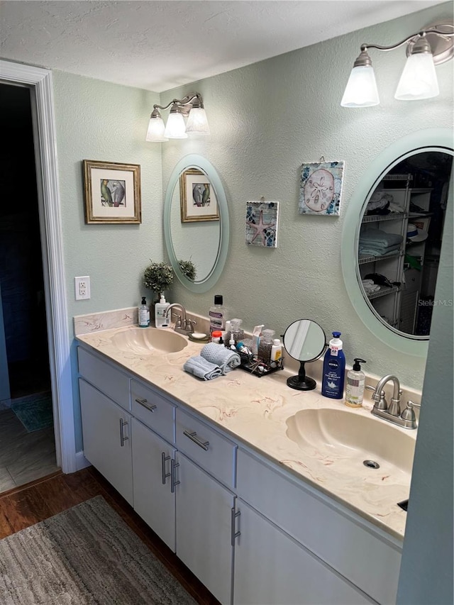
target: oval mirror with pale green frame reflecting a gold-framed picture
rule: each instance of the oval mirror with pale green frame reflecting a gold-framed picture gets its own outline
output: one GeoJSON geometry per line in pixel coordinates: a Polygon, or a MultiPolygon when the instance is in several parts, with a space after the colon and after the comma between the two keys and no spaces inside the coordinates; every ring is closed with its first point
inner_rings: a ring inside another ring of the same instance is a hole
{"type": "Polygon", "coordinates": [[[182,157],[165,193],[164,238],[177,279],[191,292],[214,287],[226,262],[229,221],[226,194],[214,166],[201,155],[182,157]],[[194,265],[195,275],[183,262],[194,265]]]}

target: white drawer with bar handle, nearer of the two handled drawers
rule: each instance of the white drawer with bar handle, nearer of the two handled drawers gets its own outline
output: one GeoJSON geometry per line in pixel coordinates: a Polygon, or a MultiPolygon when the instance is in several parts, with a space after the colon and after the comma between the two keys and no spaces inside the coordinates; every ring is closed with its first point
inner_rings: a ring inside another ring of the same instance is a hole
{"type": "Polygon", "coordinates": [[[235,487],[236,445],[177,408],[177,449],[227,487],[235,487]]]}

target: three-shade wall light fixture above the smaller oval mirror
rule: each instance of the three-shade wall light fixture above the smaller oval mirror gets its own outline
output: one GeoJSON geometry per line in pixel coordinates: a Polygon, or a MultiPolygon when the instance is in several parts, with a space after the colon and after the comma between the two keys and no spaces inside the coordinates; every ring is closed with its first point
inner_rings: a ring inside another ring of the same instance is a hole
{"type": "Polygon", "coordinates": [[[210,133],[201,94],[192,92],[182,99],[173,99],[165,106],[153,105],[146,140],[160,142],[170,138],[187,138],[188,133],[194,135],[210,133]],[[159,110],[169,107],[169,117],[164,126],[159,110]],[[184,116],[187,117],[186,123],[184,123],[184,116]]]}

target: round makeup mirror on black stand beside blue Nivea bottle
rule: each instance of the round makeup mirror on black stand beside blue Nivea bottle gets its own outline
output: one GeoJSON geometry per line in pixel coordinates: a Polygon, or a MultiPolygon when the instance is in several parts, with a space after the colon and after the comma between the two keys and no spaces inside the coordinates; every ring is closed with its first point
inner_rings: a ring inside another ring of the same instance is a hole
{"type": "Polygon", "coordinates": [[[323,328],[311,319],[299,319],[289,325],[284,333],[284,347],[290,357],[300,363],[297,376],[287,378],[291,389],[312,391],[316,387],[314,378],[306,376],[304,364],[315,361],[326,348],[326,335],[323,328]]]}

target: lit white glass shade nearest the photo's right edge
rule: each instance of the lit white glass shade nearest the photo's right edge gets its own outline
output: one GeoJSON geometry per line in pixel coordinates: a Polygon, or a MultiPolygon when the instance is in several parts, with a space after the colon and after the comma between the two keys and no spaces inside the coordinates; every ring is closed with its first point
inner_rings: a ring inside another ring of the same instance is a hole
{"type": "Polygon", "coordinates": [[[439,92],[431,52],[410,55],[405,62],[394,98],[399,101],[417,101],[418,99],[431,99],[439,92]]]}

